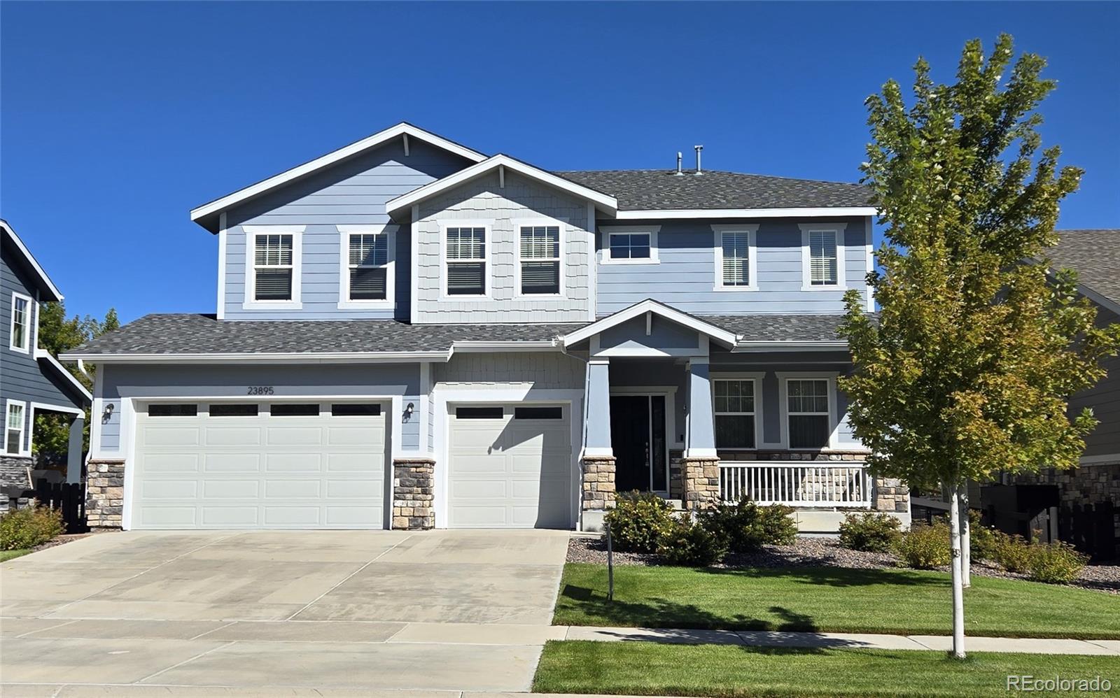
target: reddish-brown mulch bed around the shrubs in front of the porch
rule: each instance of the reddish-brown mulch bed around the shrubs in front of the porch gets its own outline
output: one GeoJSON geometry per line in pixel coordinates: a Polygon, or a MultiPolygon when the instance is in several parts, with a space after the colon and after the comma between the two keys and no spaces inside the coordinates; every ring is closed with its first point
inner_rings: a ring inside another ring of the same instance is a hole
{"type": "MultiPolygon", "coordinates": [[[[607,564],[607,544],[601,537],[578,536],[568,543],[569,563],[607,564]]],[[[661,565],[656,555],[638,553],[614,554],[616,565],[661,565]]],[[[850,567],[856,569],[898,568],[898,558],[889,553],[860,553],[841,548],[833,538],[797,538],[788,546],[763,546],[754,553],[728,555],[716,565],[726,569],[743,567],[850,567]]],[[[948,567],[941,572],[949,572],[948,567]]],[[[988,563],[972,563],[972,574],[1004,579],[1026,579],[988,563]]],[[[1120,565],[1089,565],[1080,578],[1066,586],[1079,586],[1108,594],[1120,594],[1120,565]]]]}

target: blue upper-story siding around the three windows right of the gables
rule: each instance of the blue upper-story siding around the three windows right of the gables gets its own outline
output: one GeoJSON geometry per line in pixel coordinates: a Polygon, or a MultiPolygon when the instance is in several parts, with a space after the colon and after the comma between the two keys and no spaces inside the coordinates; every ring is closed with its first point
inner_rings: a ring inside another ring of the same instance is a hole
{"type": "MultiPolygon", "coordinates": [[[[867,248],[864,218],[842,218],[844,279],[849,289],[867,293],[867,248]]],[[[659,264],[604,264],[605,233],[597,236],[596,312],[609,315],[652,298],[693,314],[842,313],[843,291],[802,291],[801,221],[760,219],[756,235],[757,291],[716,291],[712,224],[731,221],[670,220],[660,225],[659,264]]],[[[739,223],[743,223],[741,220],[739,223]]],[[[814,220],[813,223],[816,223],[814,220]]],[[[641,225],[627,220],[626,225],[641,225]]],[[[599,226],[618,225],[599,220],[599,226]]]]}

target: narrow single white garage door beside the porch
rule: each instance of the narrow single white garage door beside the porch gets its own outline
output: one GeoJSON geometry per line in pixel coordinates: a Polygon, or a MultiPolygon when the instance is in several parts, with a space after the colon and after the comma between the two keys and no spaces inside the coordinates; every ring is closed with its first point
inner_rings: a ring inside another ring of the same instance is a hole
{"type": "Polygon", "coordinates": [[[571,528],[564,406],[451,407],[448,526],[571,528]]]}

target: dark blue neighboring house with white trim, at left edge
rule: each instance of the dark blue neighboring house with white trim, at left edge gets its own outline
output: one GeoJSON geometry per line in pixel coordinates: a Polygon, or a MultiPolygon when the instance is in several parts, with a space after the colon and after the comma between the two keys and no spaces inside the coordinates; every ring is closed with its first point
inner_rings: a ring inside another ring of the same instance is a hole
{"type": "MultiPolygon", "coordinates": [[[[6,220],[0,220],[0,404],[4,411],[0,487],[27,487],[32,468],[35,415],[62,413],[71,422],[66,481],[82,479],[82,431],[92,396],[49,352],[38,347],[39,303],[63,294],[6,220]]],[[[0,509],[8,496],[0,493],[0,509]]]]}

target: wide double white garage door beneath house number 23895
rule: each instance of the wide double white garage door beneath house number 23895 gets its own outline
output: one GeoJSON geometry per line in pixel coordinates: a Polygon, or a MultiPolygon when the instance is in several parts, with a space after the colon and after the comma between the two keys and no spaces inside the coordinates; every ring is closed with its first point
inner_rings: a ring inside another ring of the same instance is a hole
{"type": "Polygon", "coordinates": [[[382,528],[373,403],[138,407],[133,528],[382,528]]]}

